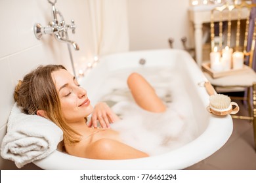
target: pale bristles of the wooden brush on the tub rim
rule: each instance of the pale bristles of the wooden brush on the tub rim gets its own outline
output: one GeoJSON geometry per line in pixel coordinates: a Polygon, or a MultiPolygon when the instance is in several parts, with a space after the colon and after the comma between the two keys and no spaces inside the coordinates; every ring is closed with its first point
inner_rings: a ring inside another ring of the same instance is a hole
{"type": "Polygon", "coordinates": [[[209,100],[210,100],[211,107],[218,108],[218,109],[228,108],[231,102],[230,97],[223,94],[211,95],[209,97],[209,100]]]}

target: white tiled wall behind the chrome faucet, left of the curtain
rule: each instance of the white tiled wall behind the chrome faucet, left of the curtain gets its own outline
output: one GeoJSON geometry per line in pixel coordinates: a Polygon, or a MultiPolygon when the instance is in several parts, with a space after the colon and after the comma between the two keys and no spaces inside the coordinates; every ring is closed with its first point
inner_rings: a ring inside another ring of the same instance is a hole
{"type": "MultiPolygon", "coordinates": [[[[69,32],[70,39],[79,44],[80,50],[72,49],[74,61],[85,64],[93,59],[95,47],[92,41],[89,10],[84,0],[58,0],[56,8],[62,12],[66,24],[74,19],[77,29],[69,32]]],[[[45,26],[52,21],[51,5],[47,0],[1,0],[0,1],[0,142],[6,133],[7,120],[14,100],[12,93],[19,79],[38,65],[58,63],[70,71],[67,45],[50,35],[37,40],[33,25],[45,26]]],[[[16,169],[12,161],[0,158],[0,169],[16,169]]],[[[37,169],[32,163],[24,169],[37,169]]]]}

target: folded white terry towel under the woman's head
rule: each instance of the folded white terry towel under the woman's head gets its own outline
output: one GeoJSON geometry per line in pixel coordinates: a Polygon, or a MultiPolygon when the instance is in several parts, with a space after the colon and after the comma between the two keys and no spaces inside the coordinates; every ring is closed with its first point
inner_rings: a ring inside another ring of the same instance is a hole
{"type": "Polygon", "coordinates": [[[1,144],[1,156],[21,168],[56,150],[62,135],[56,124],[41,116],[24,114],[15,103],[1,144]]]}

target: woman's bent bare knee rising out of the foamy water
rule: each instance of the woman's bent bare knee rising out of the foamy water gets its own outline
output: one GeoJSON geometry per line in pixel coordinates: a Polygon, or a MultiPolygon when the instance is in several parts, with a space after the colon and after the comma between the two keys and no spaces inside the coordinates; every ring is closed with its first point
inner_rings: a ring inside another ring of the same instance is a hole
{"type": "Polygon", "coordinates": [[[154,88],[138,73],[132,73],[127,84],[133,94],[137,105],[150,112],[164,112],[166,110],[163,101],[156,95],[154,88]]]}

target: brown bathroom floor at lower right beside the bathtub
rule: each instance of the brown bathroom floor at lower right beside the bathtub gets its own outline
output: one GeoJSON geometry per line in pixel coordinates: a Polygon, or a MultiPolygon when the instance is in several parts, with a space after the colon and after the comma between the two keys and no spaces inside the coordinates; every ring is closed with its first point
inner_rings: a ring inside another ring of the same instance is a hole
{"type": "MultiPolygon", "coordinates": [[[[240,106],[238,114],[247,115],[244,105],[236,102],[240,106]]],[[[237,119],[233,119],[233,124],[232,135],[221,149],[186,170],[256,170],[253,124],[249,120],[237,119]]]]}

